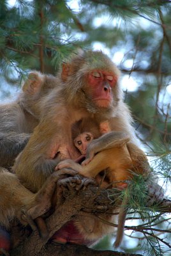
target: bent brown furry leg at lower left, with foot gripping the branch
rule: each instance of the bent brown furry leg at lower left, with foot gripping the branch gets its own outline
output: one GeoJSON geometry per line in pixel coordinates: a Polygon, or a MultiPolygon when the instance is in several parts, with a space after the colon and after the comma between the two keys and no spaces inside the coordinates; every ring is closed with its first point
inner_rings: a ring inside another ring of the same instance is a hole
{"type": "Polygon", "coordinates": [[[33,230],[38,227],[42,237],[45,237],[45,224],[43,220],[34,219],[47,212],[51,206],[51,198],[56,188],[57,180],[64,175],[75,175],[73,170],[59,170],[54,172],[45,182],[43,187],[34,194],[20,184],[19,179],[8,170],[0,169],[0,223],[9,227],[9,219],[17,218],[22,225],[29,224],[33,230]]]}

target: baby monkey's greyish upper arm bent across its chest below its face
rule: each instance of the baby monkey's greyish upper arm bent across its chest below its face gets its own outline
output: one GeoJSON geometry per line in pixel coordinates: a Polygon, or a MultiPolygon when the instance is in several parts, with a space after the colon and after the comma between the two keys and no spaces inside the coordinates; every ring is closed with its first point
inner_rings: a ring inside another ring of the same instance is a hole
{"type": "Polygon", "coordinates": [[[87,155],[82,162],[82,166],[88,164],[95,154],[108,148],[122,147],[126,142],[130,140],[126,132],[108,132],[103,134],[100,138],[91,141],[87,147],[87,155]]]}

